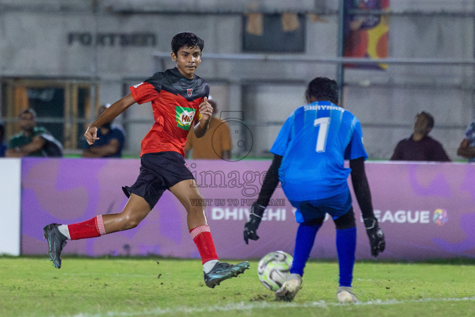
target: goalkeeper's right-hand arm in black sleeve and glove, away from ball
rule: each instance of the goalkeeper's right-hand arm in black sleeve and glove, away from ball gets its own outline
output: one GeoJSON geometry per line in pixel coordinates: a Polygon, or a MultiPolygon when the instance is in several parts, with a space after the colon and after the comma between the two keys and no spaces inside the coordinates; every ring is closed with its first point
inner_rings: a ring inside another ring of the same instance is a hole
{"type": "Polygon", "coordinates": [[[380,252],[384,251],[386,242],[384,240],[384,233],[378,224],[378,219],[376,219],[373,213],[370,185],[364,170],[364,158],[350,160],[350,168],[352,169],[352,184],[356,200],[358,200],[358,205],[360,205],[366,233],[368,233],[368,238],[370,239],[371,254],[378,256],[380,252]]]}

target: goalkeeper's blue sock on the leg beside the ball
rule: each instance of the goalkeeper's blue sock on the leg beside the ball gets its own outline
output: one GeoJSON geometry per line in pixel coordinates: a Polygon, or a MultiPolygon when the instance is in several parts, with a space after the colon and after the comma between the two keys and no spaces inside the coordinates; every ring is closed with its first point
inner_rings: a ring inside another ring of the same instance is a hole
{"type": "Polygon", "coordinates": [[[294,261],[290,273],[304,275],[305,263],[310,256],[320,226],[319,224],[305,225],[304,223],[299,225],[295,237],[294,261]]]}

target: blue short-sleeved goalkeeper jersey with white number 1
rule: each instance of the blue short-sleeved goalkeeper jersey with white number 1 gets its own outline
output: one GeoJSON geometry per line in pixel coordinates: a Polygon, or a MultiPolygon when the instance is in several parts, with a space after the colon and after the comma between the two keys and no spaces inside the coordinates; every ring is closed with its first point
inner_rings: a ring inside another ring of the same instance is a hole
{"type": "Polygon", "coordinates": [[[368,158],[360,121],[327,101],[304,105],[285,121],[270,151],[289,200],[324,199],[348,190],[345,159],[368,158]]]}

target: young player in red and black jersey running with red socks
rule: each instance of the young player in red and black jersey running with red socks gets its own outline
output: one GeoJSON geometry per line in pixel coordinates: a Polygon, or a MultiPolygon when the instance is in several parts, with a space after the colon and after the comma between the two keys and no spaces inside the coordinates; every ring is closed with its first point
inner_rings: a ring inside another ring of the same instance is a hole
{"type": "Polygon", "coordinates": [[[213,238],[206,220],[206,207],[191,205],[202,199],[193,184],[193,175],[184,160],[184,146],[190,127],[200,138],[209,127],[213,108],[208,103],[209,85],[194,75],[201,62],[204,41],[190,32],[181,32],[171,40],[171,58],[176,67],[155,73],[151,78],[130,87],[131,93],[113,103],[85,132],[91,145],[96,132],[134,103],[152,102],[155,123],[141,143],[140,175],[131,187],[122,187],[129,201],[119,214],[103,214],[79,224],[48,224],[45,238],[49,256],[61,268],[60,254],[66,240],[98,237],[106,233],[136,227],[168,189],[187,211],[190,234],[203,263],[204,279],[214,288],[223,280],[249,268],[249,262],[237,265],[218,261],[213,238]]]}

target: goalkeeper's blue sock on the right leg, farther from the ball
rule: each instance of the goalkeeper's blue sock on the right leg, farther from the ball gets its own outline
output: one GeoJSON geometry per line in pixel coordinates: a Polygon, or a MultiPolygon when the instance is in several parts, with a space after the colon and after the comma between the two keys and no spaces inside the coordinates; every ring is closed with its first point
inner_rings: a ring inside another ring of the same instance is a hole
{"type": "Polygon", "coordinates": [[[336,251],[340,267],[340,286],[351,287],[355,264],[356,227],[336,230],[336,251]]]}

